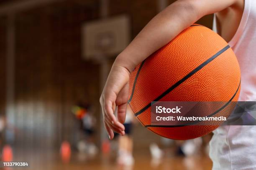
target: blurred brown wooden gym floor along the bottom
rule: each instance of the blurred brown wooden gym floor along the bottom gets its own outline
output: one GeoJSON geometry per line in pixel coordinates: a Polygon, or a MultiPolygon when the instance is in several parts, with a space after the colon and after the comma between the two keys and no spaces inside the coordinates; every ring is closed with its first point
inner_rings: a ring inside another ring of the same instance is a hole
{"type": "Polygon", "coordinates": [[[15,160],[30,164],[29,168],[18,168],[19,170],[210,170],[212,167],[212,162],[206,155],[189,158],[168,156],[161,160],[151,160],[148,150],[135,151],[133,167],[118,166],[113,155],[97,155],[91,160],[84,160],[84,156],[72,151],[70,163],[63,164],[58,151],[14,152],[15,160]]]}

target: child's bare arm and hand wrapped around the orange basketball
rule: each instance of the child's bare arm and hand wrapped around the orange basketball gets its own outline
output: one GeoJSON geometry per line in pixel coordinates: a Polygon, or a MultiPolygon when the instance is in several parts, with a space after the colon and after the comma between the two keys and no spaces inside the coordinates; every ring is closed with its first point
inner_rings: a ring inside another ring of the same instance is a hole
{"type": "Polygon", "coordinates": [[[178,0],[156,15],[116,58],[100,97],[105,129],[124,134],[130,72],[204,15],[224,10],[237,0],[178,0]],[[118,120],[114,115],[118,106],[118,120]]]}

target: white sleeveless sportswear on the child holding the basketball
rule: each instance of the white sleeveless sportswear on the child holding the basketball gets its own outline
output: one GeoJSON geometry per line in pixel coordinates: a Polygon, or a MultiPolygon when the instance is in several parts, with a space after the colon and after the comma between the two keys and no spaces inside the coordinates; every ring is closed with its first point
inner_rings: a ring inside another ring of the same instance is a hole
{"type": "MultiPolygon", "coordinates": [[[[256,101],[256,0],[245,0],[240,25],[228,44],[241,68],[239,100],[256,101]]],[[[256,126],[221,126],[213,133],[213,170],[256,170],[256,126]]]]}

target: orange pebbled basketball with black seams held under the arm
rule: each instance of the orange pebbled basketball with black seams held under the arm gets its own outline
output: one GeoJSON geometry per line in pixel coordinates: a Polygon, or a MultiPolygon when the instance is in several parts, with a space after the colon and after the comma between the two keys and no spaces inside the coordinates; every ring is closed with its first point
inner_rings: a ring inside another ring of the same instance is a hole
{"type": "Polygon", "coordinates": [[[151,125],[151,101],[223,101],[229,115],[240,93],[241,72],[228,43],[194,24],[141,62],[131,73],[128,103],[143,126],[166,138],[187,140],[219,125],[151,125]]]}

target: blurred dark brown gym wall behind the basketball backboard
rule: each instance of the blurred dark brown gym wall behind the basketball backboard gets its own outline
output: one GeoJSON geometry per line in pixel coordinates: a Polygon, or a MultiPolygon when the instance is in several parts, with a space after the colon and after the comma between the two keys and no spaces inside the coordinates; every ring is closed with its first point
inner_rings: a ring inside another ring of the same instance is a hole
{"type": "MultiPolygon", "coordinates": [[[[26,0],[2,0],[0,7],[26,0]]],[[[109,0],[109,16],[127,14],[131,35],[138,32],[159,11],[160,0],[109,0]]],[[[166,0],[166,5],[174,0],[166,0]]],[[[94,106],[100,124],[100,64],[81,56],[81,25],[100,18],[100,0],[59,0],[22,10],[14,15],[15,77],[14,118],[18,129],[15,145],[56,147],[62,140],[74,140],[77,124],[71,113],[79,100],[94,106]]],[[[212,15],[198,23],[211,28],[212,15]]],[[[8,16],[0,16],[0,114],[6,112],[6,59],[8,16]]],[[[109,69],[113,63],[109,60],[109,69]]],[[[141,127],[141,125],[138,125],[141,127]]],[[[97,138],[100,140],[100,126],[97,138]]],[[[136,131],[136,145],[143,136],[157,138],[143,127],[136,131]]],[[[141,142],[140,142],[141,141],[141,142]]]]}

